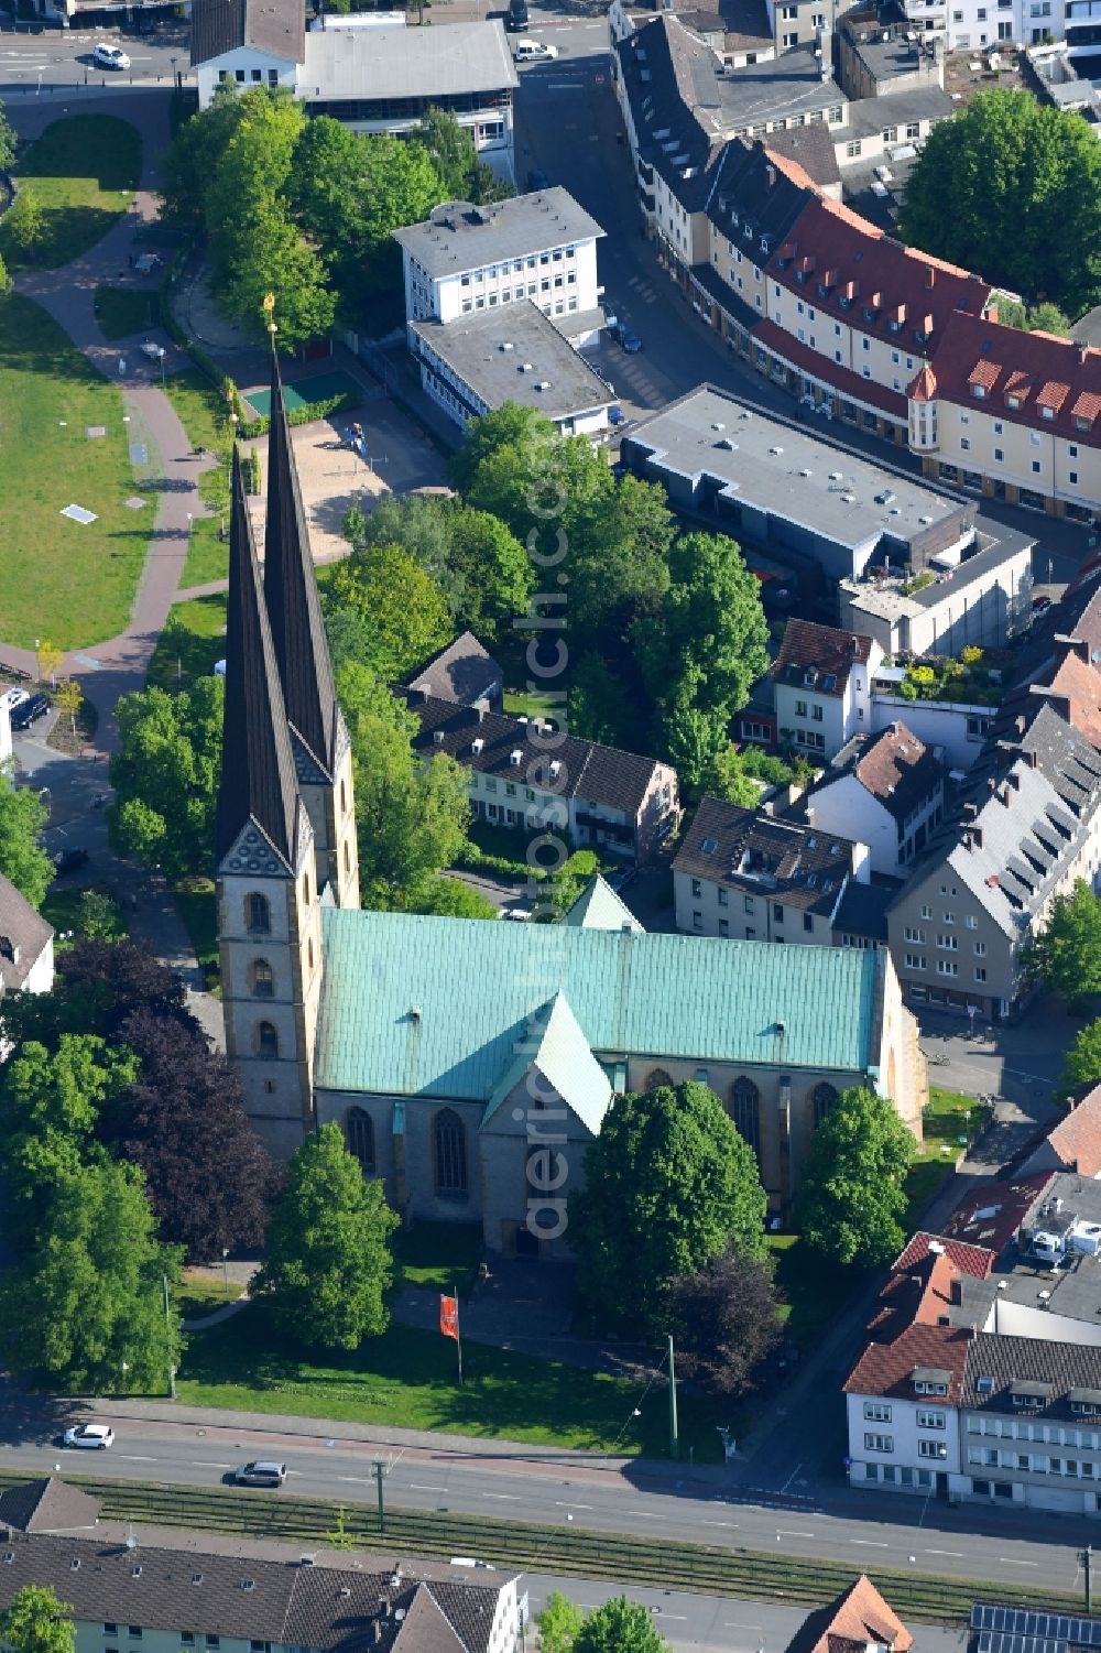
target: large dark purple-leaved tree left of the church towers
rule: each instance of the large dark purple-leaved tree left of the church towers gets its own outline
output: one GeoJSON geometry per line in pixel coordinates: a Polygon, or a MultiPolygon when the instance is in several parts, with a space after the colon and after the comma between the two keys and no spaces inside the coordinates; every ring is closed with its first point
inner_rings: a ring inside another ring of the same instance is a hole
{"type": "Polygon", "coordinates": [[[162,1240],[192,1263],[263,1243],[281,1172],[245,1114],[241,1081],[198,1028],[149,1010],[122,1036],[141,1060],[101,1136],[145,1174],[162,1240]]]}

